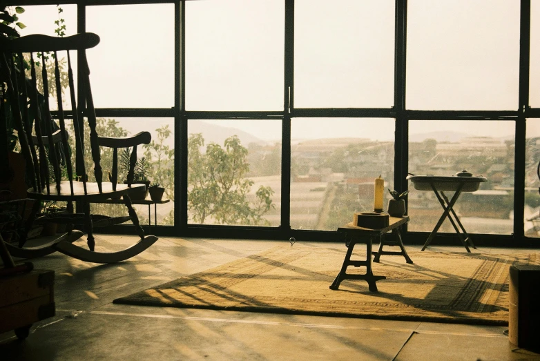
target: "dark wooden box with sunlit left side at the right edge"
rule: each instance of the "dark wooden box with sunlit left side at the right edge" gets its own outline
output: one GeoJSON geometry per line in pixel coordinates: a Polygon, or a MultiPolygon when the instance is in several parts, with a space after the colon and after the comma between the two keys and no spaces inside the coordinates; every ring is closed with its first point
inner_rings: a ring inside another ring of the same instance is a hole
{"type": "Polygon", "coordinates": [[[508,339],[524,349],[540,349],[540,266],[510,266],[508,339]]]}

